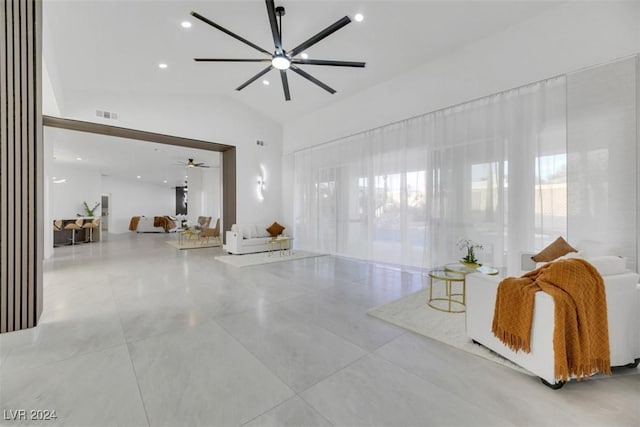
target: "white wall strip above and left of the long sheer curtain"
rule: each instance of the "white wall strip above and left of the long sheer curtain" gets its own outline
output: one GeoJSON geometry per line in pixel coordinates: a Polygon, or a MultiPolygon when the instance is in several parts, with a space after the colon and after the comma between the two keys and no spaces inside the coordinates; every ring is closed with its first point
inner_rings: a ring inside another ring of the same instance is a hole
{"type": "MultiPolygon", "coordinates": [[[[285,123],[283,165],[291,169],[290,153],[303,147],[632,55],[640,51],[639,22],[640,2],[569,2],[552,8],[285,123]]],[[[292,172],[283,170],[282,176],[292,172]]],[[[282,186],[288,223],[293,221],[292,181],[283,179],[282,186]]]]}

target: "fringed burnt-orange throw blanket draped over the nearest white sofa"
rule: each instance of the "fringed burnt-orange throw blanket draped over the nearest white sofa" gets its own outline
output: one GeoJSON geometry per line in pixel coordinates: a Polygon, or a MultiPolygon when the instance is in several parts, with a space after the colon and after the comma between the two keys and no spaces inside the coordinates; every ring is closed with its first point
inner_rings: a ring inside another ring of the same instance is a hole
{"type": "Polygon", "coordinates": [[[558,381],[578,380],[598,372],[611,374],[609,328],[604,282],[582,259],[551,262],[520,278],[500,282],[493,334],[513,351],[531,352],[535,293],[555,303],[553,350],[558,381]]]}

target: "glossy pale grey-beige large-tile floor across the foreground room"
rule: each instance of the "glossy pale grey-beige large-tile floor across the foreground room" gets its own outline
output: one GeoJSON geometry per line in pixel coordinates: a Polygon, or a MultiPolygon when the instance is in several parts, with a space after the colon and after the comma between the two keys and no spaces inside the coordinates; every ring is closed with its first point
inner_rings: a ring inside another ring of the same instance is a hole
{"type": "Polygon", "coordinates": [[[318,257],[234,268],[173,236],[56,248],[37,328],[0,335],[0,424],[640,425],[638,370],[535,378],[406,332],[368,308],[420,275],[318,257]]]}

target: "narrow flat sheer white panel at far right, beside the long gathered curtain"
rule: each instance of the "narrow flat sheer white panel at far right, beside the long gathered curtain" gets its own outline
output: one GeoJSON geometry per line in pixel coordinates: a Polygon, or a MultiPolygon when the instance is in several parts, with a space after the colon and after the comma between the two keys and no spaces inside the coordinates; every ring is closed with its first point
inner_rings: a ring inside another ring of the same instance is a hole
{"type": "Polygon", "coordinates": [[[567,76],[569,237],[606,242],[638,271],[640,56],[567,76]]]}

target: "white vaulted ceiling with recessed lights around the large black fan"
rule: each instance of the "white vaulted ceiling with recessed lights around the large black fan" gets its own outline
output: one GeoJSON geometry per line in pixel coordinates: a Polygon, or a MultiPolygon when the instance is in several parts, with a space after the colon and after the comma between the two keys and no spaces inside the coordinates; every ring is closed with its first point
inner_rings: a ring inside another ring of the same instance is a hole
{"type": "Polygon", "coordinates": [[[264,55],[194,19],[209,18],[271,51],[273,38],[261,0],[45,0],[44,56],[55,90],[74,94],[211,94],[231,97],[280,123],[295,120],[369,86],[555,6],[541,1],[282,0],[282,39],[291,49],[347,15],[352,22],[307,50],[311,59],[364,61],[366,68],[302,66],[337,90],[289,72],[286,102],[275,70],[242,91],[235,88],[264,63],[196,63],[195,57],[264,55]],[[183,28],[190,21],[191,28],[183,28]],[[167,64],[160,69],[158,64],[167,64]]]}

